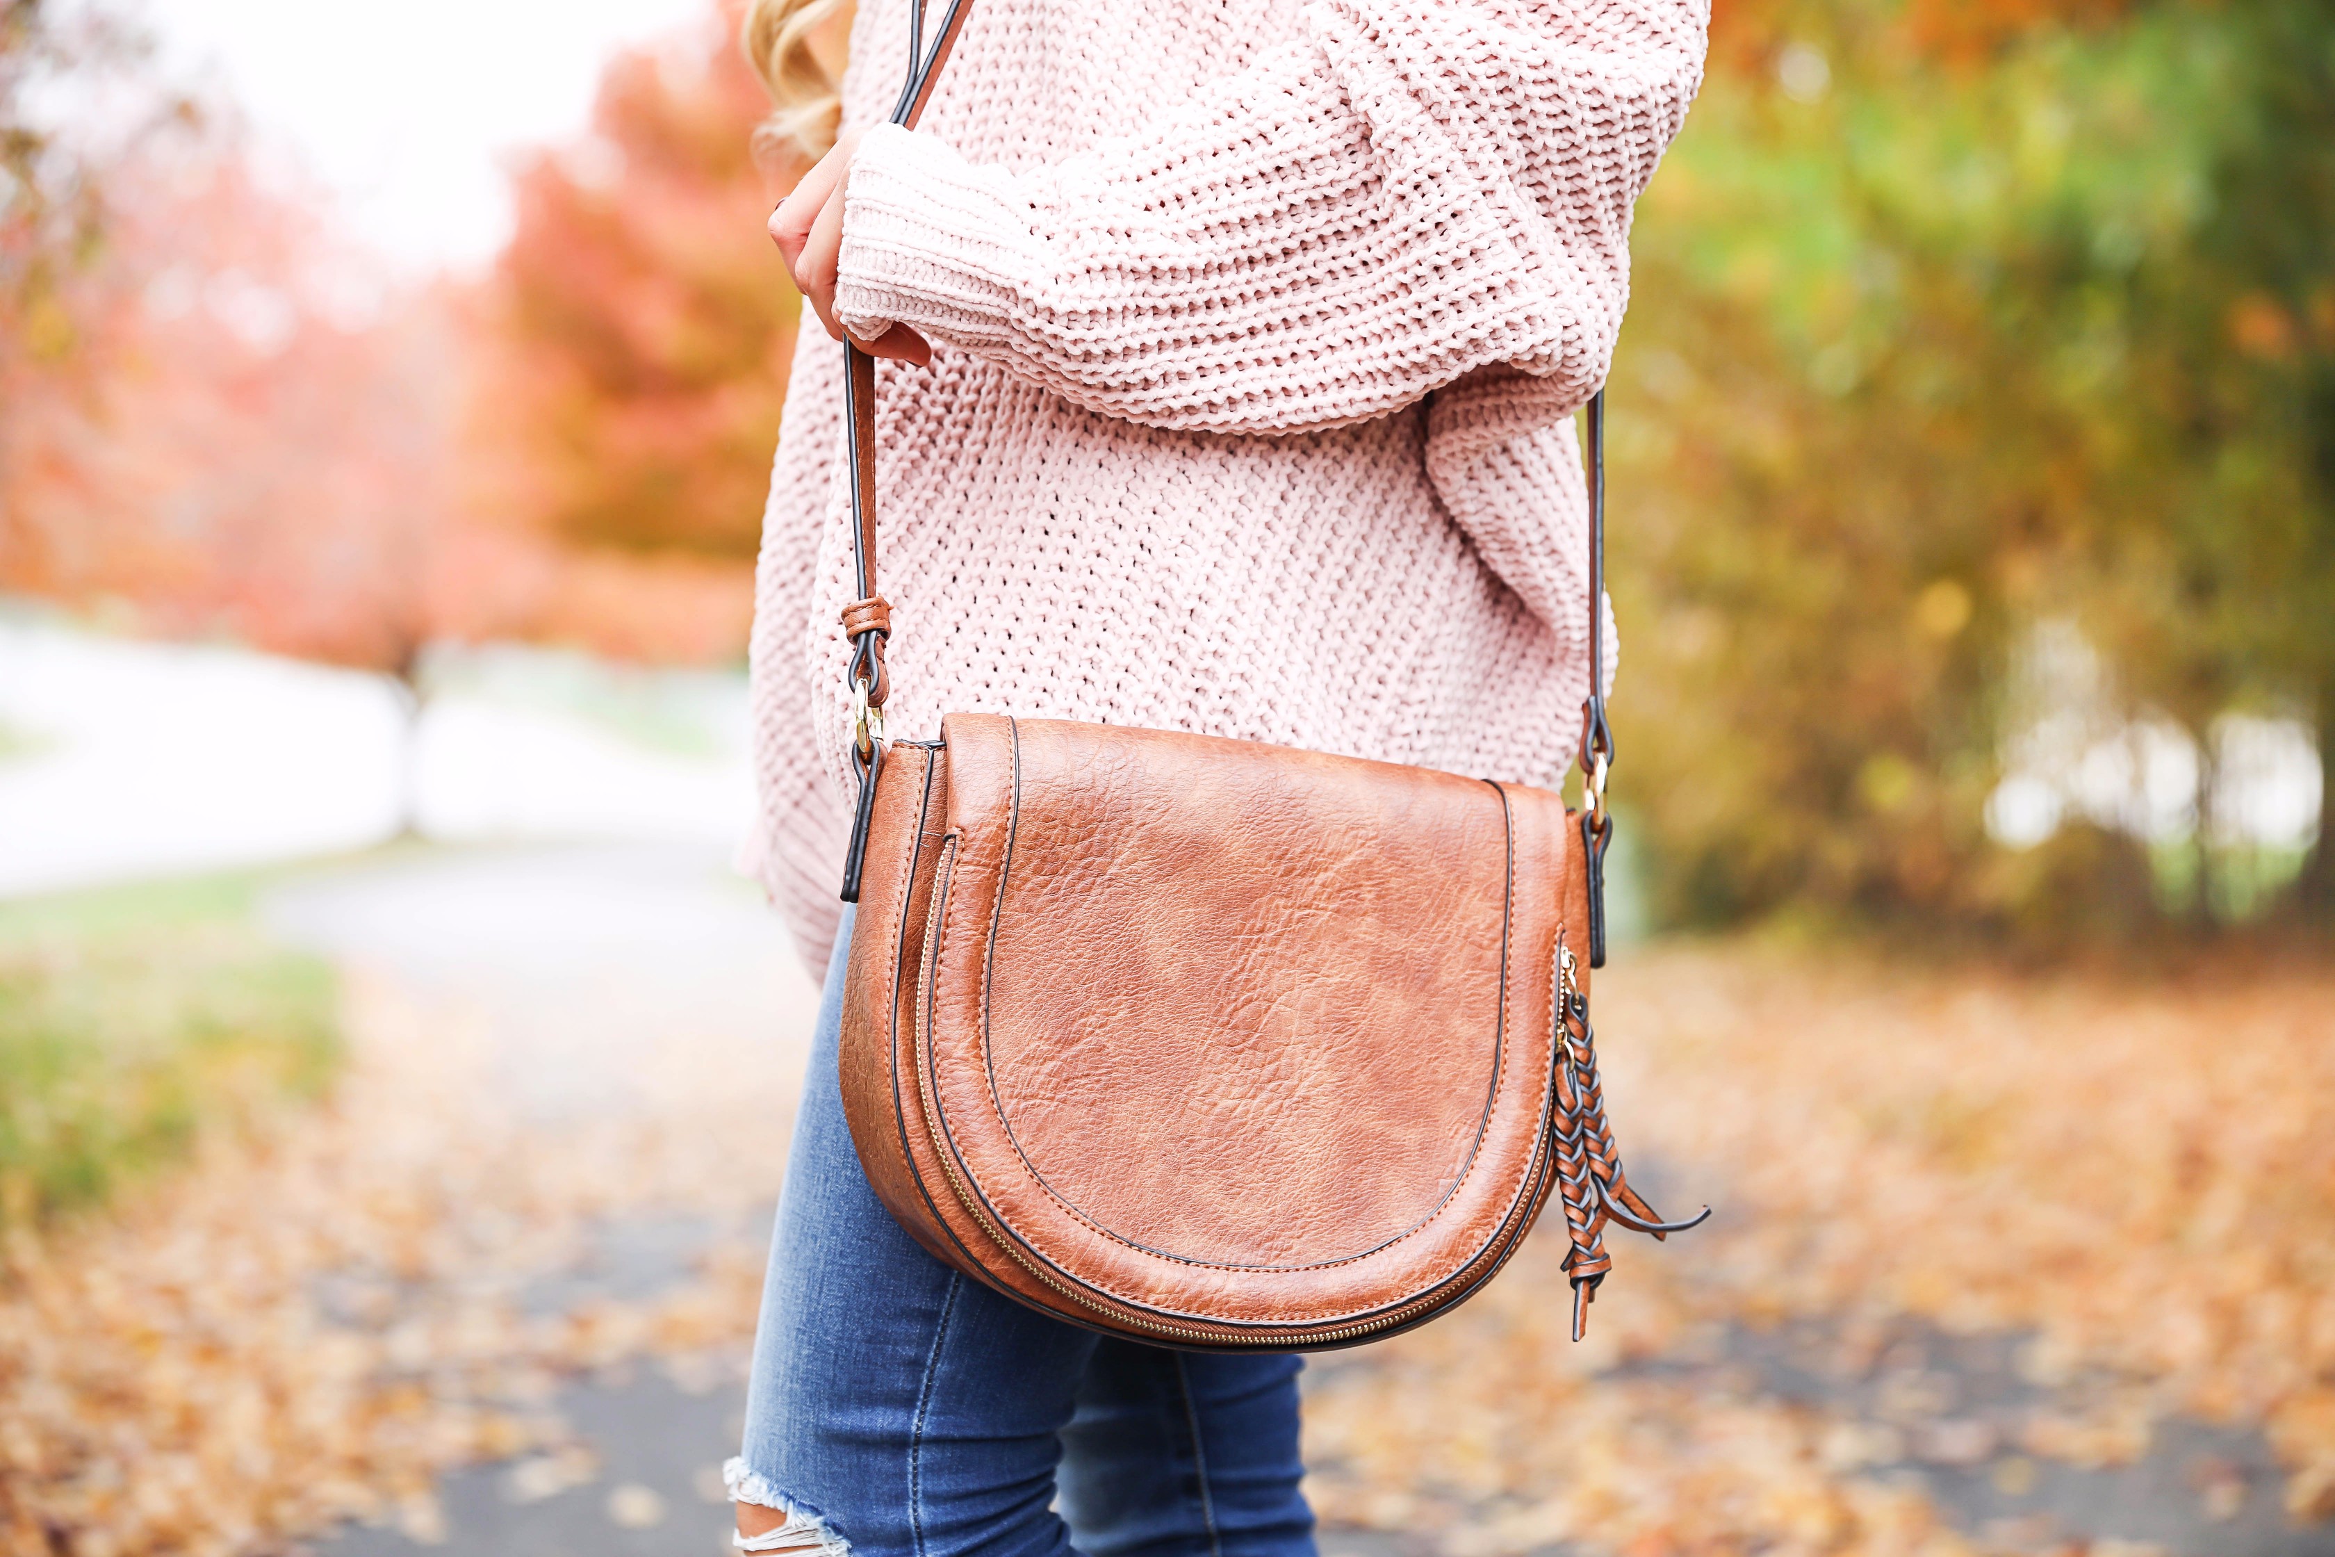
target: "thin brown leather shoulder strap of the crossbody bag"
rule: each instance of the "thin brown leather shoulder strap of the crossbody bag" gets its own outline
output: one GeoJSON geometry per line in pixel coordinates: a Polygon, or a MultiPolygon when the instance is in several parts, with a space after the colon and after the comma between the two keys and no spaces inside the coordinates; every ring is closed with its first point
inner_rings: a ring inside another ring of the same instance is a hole
{"type": "MultiPolygon", "coordinates": [[[[941,82],[948,51],[974,9],[974,0],[948,0],[932,47],[925,47],[927,0],[908,0],[908,79],[892,107],[892,124],[915,128],[941,82]]],[[[859,768],[859,805],[852,817],[852,840],[843,857],[843,901],[859,901],[859,873],[866,864],[869,822],[876,815],[876,775],[883,768],[883,705],[892,693],[883,651],[892,637],[892,607],[876,593],[876,357],[850,341],[843,345],[843,406],[852,453],[852,577],[859,598],[843,607],[843,630],[852,642],[852,763],[859,768]]],[[[1606,773],[1613,768],[1613,731],[1604,707],[1604,390],[1588,404],[1588,479],[1590,479],[1590,696],[1581,705],[1581,847],[1590,866],[1590,966],[1604,966],[1604,852],[1613,840],[1613,817],[1604,803],[1606,773]]]]}

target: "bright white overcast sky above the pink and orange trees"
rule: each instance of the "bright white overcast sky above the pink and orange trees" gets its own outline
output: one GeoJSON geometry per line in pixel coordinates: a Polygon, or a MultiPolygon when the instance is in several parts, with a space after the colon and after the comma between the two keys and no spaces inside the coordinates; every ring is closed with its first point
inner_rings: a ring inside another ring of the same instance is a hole
{"type": "Polygon", "coordinates": [[[584,126],[600,63],[708,0],[142,0],[173,75],[234,96],[402,268],[509,233],[504,154],[584,126]]]}

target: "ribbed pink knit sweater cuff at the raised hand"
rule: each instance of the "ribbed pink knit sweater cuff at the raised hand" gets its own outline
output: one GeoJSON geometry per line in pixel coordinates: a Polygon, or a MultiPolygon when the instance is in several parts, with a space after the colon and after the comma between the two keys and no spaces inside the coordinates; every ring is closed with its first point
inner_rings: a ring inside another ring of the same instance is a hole
{"type": "Polygon", "coordinates": [[[1027,198],[1004,168],[880,124],[859,140],[843,196],[836,315],[876,338],[908,324],[953,345],[999,345],[1018,280],[1037,271],[1027,198]]]}

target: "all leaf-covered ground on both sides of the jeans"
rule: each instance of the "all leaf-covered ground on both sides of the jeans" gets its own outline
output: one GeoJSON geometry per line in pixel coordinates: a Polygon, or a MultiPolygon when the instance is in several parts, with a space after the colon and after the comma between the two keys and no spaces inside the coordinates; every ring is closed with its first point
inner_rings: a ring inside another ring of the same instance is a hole
{"type": "MultiPolygon", "coordinates": [[[[273,1552],[341,1520],[430,1541],[451,1466],[591,1475],[572,1380],[738,1377],[782,1064],[670,1034],[623,1111],[546,1116],[493,1022],[383,976],[348,999],[332,1104],[14,1235],[7,1557],[273,1552]],[[684,1279],[530,1298],[640,1216],[710,1228],[684,1279]]],[[[1625,1153],[1665,1209],[1719,1216],[1618,1242],[1585,1345],[1539,1240],[1459,1314],[1317,1368],[1333,1524],[1452,1557],[2038,1548],[2083,1531],[1957,1524],[1894,1468],[2010,1494],[2193,1422],[2267,1431],[2256,1499],[2335,1510],[2335,973],[1681,948],[1604,976],[1599,1036],[1625,1153]],[[1957,1396],[1954,1347],[1996,1347],[2015,1396],[1957,1396]]],[[[2232,1478],[2174,1494],[2211,1517],[2232,1478]]]]}

